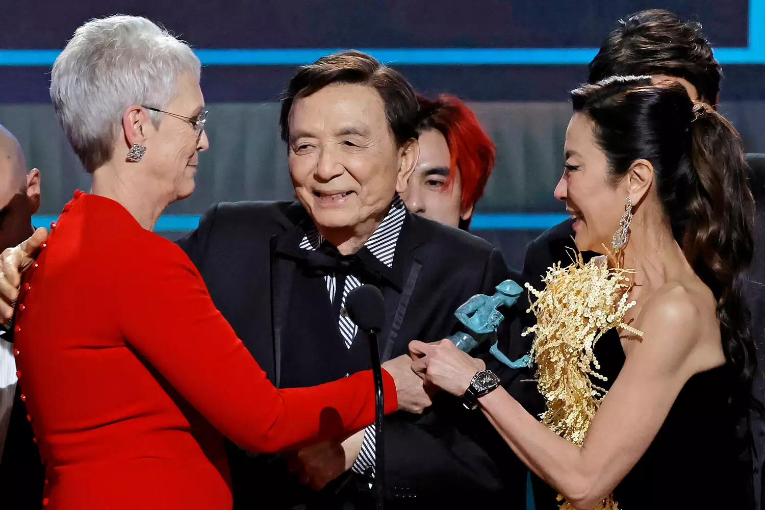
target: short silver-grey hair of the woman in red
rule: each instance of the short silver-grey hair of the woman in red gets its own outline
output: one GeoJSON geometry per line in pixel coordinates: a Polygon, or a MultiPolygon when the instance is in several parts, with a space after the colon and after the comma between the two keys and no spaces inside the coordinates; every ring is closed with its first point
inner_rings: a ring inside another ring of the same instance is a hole
{"type": "MultiPolygon", "coordinates": [[[[200,77],[188,44],[137,16],[110,16],[83,24],[56,59],[50,99],[58,121],[86,171],[112,158],[128,106],[164,109],[184,73],[200,77]]],[[[156,112],[148,112],[155,125],[156,112]]]]}

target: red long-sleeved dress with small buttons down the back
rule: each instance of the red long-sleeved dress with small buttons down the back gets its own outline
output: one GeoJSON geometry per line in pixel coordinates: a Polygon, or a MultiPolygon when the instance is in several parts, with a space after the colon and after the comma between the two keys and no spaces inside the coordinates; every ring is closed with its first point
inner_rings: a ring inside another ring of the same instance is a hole
{"type": "Polygon", "coordinates": [[[371,372],[274,388],[184,252],[105,197],[78,191],[64,207],[16,324],[47,508],[228,510],[223,435],[273,452],[374,420],[371,372]]]}

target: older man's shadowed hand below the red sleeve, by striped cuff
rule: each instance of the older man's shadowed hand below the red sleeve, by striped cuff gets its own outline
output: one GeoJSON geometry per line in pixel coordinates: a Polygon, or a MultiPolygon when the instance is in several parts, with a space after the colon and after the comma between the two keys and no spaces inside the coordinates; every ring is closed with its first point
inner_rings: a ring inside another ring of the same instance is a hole
{"type": "Polygon", "coordinates": [[[338,443],[327,440],[312,447],[299,450],[292,462],[288,463],[293,472],[298,473],[300,482],[321,490],[338,476],[345,473],[356,462],[364,440],[364,431],[360,430],[338,443]]]}

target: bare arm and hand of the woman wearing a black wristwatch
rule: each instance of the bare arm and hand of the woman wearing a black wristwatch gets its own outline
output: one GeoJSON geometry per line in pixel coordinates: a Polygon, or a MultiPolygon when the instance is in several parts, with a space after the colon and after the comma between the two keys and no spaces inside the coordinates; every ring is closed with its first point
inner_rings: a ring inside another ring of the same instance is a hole
{"type": "MultiPolygon", "coordinates": [[[[479,399],[509,447],[576,508],[592,508],[613,491],[653,441],[688,378],[717,359],[713,343],[699,341],[708,336],[709,321],[685,289],[651,301],[636,321],[643,341],[629,350],[582,447],[558,437],[501,387],[479,399]]],[[[410,350],[412,369],[426,384],[453,395],[464,395],[480,369],[448,340],[413,342],[410,350]]]]}

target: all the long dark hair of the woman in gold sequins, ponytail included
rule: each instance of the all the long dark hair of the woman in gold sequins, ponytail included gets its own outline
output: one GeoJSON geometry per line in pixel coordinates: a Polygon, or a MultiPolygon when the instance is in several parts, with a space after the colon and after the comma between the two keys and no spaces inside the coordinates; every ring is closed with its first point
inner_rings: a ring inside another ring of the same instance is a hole
{"type": "Polygon", "coordinates": [[[692,102],[678,83],[612,76],[571,93],[575,112],[594,122],[615,181],[633,161],[653,164],[672,235],[715,294],[725,359],[735,378],[738,416],[761,410],[752,395],[757,359],[744,300],[744,271],[754,253],[754,199],[741,138],[711,106],[692,102]]]}

